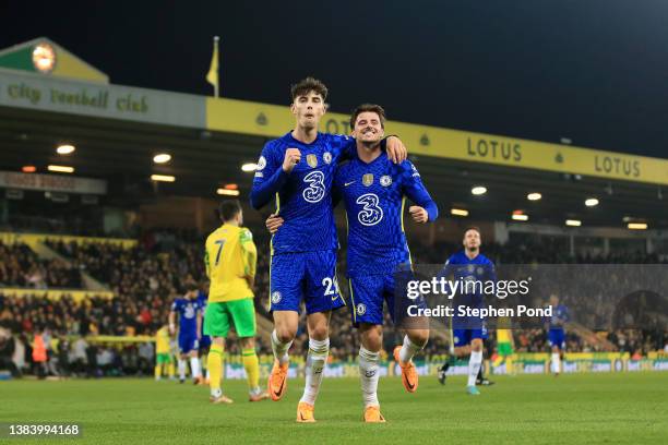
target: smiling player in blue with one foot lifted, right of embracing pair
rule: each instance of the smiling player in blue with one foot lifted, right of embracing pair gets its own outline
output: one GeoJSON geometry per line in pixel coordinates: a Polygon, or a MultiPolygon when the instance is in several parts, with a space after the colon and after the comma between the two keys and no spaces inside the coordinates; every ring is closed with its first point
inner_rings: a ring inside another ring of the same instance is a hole
{"type": "MultiPolygon", "coordinates": [[[[403,229],[404,196],[420,204],[408,212],[416,222],[432,221],[438,208],[419,179],[413,164],[393,164],[381,149],[385,111],[379,105],[360,105],[353,111],[350,128],[356,152],[349,163],[337,168],[334,179],[334,206],[343,197],[348,220],[347,266],[350,278],[353,323],[359,327],[359,373],[363,419],[384,422],[378,400],[379,361],[382,347],[383,303],[394,320],[395,273],[410,268],[410,253],[403,229]]],[[[270,217],[267,228],[274,233],[284,222],[270,217]]],[[[418,386],[413,356],[429,338],[429,329],[407,329],[404,345],[395,349],[402,368],[402,381],[409,393],[418,386]]]]}

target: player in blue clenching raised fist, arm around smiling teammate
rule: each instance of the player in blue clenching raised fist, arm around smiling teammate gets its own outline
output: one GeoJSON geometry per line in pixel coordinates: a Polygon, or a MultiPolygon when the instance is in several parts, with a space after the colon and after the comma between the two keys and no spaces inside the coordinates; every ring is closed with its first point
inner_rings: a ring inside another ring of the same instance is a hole
{"type": "MultiPolygon", "coordinates": [[[[272,350],[275,362],[267,387],[273,400],[287,388],[288,349],[299,322],[299,305],[307,311],[309,352],[306,385],[297,406],[298,422],[314,422],[313,409],[330,352],[331,311],[345,305],[336,282],[336,225],[332,181],[339,159],[355,152],[348,136],[320,133],[325,113],[326,86],[312,77],[294,85],[290,110],[295,129],[266,143],[258,160],[251,205],[260,209],[276,197],[276,213],[286,220],[271,242],[270,311],[274,317],[272,350]]],[[[406,157],[401,141],[387,142],[387,153],[406,157]],[[397,148],[398,147],[398,148],[397,148]],[[397,149],[393,149],[397,148],[397,149]]]]}

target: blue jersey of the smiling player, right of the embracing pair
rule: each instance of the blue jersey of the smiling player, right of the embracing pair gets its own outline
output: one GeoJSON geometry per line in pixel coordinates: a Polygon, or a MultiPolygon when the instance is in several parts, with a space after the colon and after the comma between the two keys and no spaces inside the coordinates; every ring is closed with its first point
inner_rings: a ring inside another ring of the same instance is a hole
{"type": "Polygon", "coordinates": [[[438,217],[415,166],[396,165],[383,152],[367,164],[357,153],[338,167],[335,201],[344,200],[348,221],[347,274],[349,277],[393,273],[410,265],[404,233],[405,197],[425,207],[429,220],[438,217]]]}

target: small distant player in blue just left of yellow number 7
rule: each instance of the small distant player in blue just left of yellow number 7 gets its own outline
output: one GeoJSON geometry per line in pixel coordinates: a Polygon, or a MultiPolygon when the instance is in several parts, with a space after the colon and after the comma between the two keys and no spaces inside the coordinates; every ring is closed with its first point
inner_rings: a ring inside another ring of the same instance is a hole
{"type": "Polygon", "coordinates": [[[186,285],[186,296],[177,298],[169,311],[169,334],[174,335],[176,314],[179,315],[179,382],[186,382],[186,359],[190,358],[190,373],[193,383],[201,381],[200,359],[198,358],[202,311],[198,303],[198,286],[194,282],[186,285]]]}

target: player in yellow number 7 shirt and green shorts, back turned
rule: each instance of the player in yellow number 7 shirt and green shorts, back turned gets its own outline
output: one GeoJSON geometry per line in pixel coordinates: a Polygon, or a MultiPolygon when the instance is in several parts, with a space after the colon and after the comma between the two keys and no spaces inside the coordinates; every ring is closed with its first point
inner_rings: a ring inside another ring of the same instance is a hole
{"type": "Polygon", "coordinates": [[[223,351],[225,338],[234,324],[243,368],[248,377],[249,400],[260,401],[269,395],[260,388],[260,365],[255,353],[255,308],[253,282],[258,251],[253,237],[244,227],[239,201],[224,201],[218,208],[223,226],[206,238],[205,265],[211,280],[208,304],[204,314],[204,334],[211,336],[207,369],[211,374],[211,402],[231,404],[223,395],[223,351]]]}

